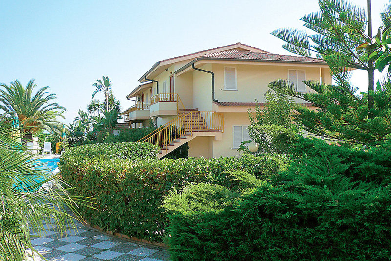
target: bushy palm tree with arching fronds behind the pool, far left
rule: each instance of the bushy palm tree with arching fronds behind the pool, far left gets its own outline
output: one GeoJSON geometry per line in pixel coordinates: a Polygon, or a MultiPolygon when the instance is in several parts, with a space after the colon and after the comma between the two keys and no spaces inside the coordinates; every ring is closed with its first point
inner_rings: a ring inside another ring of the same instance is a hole
{"type": "Polygon", "coordinates": [[[56,96],[46,92],[49,86],[40,88],[35,94],[33,91],[37,84],[34,79],[27,83],[26,88],[18,80],[10,85],[1,83],[0,87],[0,109],[5,112],[4,115],[18,115],[22,137],[31,139],[32,134],[42,129],[50,132],[61,131],[57,117],[65,119],[62,113],[66,109],[56,102],[51,102],[56,96]]]}

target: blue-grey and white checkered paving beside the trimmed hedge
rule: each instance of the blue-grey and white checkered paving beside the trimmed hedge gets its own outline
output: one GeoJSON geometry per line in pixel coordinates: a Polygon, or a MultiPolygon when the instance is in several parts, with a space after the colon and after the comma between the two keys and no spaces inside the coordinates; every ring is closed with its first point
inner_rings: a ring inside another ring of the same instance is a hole
{"type": "MultiPolygon", "coordinates": [[[[104,235],[95,229],[75,223],[76,229],[69,226],[66,233],[59,233],[56,225],[46,224],[43,237],[33,237],[31,243],[49,261],[167,261],[165,250],[153,249],[104,235]]],[[[34,255],[28,261],[43,261],[34,255]]]]}

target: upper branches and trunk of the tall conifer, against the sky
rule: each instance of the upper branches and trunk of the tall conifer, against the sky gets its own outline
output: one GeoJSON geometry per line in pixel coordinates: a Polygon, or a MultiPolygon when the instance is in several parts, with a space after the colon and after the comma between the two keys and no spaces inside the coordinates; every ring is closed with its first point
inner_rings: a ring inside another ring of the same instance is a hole
{"type": "MultiPolygon", "coordinates": [[[[369,58],[369,50],[357,49],[365,42],[372,40],[370,0],[368,0],[368,16],[366,9],[347,0],[319,0],[319,12],[301,18],[304,27],[312,30],[278,29],[273,35],[286,43],[284,49],[306,57],[316,54],[326,61],[343,60],[349,67],[368,72],[368,90],[373,90],[374,68],[369,58]]],[[[383,24],[387,21],[383,19],[383,24]]],[[[331,61],[330,61],[331,62],[331,61]]],[[[369,108],[373,107],[369,99],[369,108]]]]}

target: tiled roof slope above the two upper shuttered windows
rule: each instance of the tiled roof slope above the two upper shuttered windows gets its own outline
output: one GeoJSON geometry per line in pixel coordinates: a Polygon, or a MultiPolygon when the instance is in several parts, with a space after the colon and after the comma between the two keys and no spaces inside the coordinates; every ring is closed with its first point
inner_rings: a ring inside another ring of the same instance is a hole
{"type": "Polygon", "coordinates": [[[215,53],[208,53],[203,55],[206,58],[215,59],[243,59],[243,60],[260,60],[260,61],[282,61],[282,62],[302,62],[302,63],[320,63],[326,64],[325,60],[317,58],[308,58],[303,56],[282,55],[263,52],[251,51],[222,51],[215,53]]]}

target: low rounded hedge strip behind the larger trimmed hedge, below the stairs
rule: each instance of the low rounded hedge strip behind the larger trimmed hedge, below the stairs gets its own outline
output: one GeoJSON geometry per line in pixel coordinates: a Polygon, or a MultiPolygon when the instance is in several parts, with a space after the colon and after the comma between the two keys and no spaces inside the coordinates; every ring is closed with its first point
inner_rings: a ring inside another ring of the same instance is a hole
{"type": "Polygon", "coordinates": [[[61,155],[60,163],[68,158],[91,159],[132,159],[139,160],[145,158],[156,158],[159,149],[151,143],[97,143],[83,146],[71,147],[61,155]]]}

